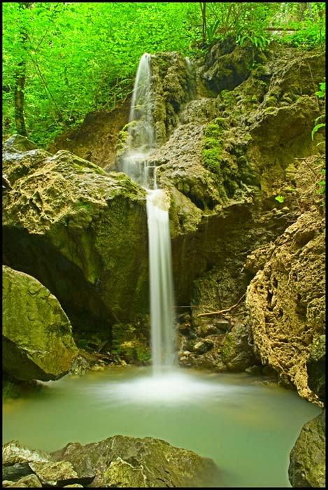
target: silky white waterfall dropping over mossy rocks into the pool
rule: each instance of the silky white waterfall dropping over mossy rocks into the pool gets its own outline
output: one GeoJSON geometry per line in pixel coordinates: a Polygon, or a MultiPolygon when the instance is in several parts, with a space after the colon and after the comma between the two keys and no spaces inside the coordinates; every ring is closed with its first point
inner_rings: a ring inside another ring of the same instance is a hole
{"type": "Polygon", "coordinates": [[[136,73],[123,171],[147,190],[152,370],[159,374],[173,366],[176,356],[169,197],[157,188],[155,165],[148,165],[156,146],[150,62],[145,53],[136,73]]]}

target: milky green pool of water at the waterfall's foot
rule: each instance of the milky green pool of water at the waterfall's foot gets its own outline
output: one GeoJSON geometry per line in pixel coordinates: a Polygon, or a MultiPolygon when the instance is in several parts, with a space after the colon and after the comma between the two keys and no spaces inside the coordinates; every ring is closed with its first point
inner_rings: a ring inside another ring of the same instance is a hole
{"type": "Polygon", "coordinates": [[[321,410],[258,379],[194,370],[154,377],[148,367],[66,376],[3,404],[3,443],[50,452],[117,434],[158,437],[212,458],[218,486],[288,487],[290,450],[321,410]]]}

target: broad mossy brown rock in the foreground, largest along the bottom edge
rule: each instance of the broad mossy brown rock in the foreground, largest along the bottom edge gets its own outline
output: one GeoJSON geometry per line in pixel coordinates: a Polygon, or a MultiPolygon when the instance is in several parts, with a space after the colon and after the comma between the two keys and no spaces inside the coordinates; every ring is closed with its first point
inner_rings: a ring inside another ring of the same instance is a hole
{"type": "Polygon", "coordinates": [[[152,437],[115,435],[85,446],[67,444],[52,456],[57,461],[70,461],[80,474],[94,472],[90,487],[162,488],[218,482],[218,468],[211,459],[152,437]]]}

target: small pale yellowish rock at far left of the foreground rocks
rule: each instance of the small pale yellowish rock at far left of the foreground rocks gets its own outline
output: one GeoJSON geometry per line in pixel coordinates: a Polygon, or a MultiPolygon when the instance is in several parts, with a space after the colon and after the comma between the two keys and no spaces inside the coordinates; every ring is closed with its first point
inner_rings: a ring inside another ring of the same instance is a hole
{"type": "Polygon", "coordinates": [[[53,461],[50,454],[37,449],[30,449],[19,441],[7,442],[2,447],[2,464],[4,466],[15,465],[16,463],[49,462],[53,461]]]}

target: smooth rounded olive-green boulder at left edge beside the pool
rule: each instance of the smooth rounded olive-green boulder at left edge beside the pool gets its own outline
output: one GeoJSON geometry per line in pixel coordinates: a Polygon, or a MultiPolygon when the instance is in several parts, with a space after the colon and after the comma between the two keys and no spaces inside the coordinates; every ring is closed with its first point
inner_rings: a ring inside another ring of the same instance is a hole
{"type": "Polygon", "coordinates": [[[21,380],[58,379],[78,349],[57,298],[39,281],[3,266],[3,370],[21,380]]]}

